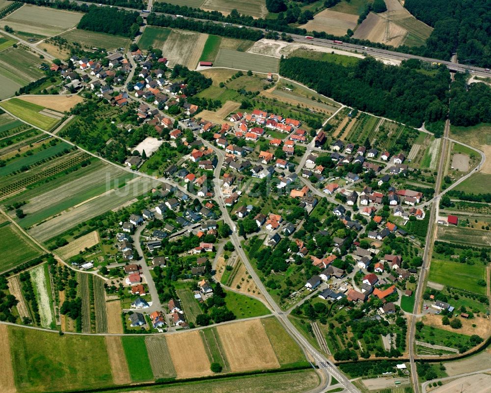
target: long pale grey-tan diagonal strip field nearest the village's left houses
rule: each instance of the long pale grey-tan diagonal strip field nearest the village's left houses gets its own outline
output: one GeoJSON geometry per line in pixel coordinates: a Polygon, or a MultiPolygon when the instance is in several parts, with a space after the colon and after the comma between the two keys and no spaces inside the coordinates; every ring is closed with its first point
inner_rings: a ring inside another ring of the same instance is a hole
{"type": "Polygon", "coordinates": [[[29,234],[45,242],[74,226],[99,214],[114,209],[121,204],[135,199],[157,186],[159,182],[148,178],[137,178],[129,181],[124,187],[109,190],[87,202],[79,204],[68,211],[44,221],[31,228],[29,234]]]}

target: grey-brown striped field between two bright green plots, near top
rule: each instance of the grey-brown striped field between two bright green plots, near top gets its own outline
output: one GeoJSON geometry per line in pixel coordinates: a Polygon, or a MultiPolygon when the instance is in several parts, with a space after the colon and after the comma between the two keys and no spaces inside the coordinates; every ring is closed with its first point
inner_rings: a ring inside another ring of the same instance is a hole
{"type": "MultiPolygon", "coordinates": [[[[165,54],[169,61],[167,65],[169,67],[173,67],[176,64],[188,66],[196,48],[196,43],[199,40],[199,36],[199,33],[184,30],[172,30],[162,47],[162,53],[165,54]]],[[[202,51],[203,48],[201,48],[200,54],[202,51]]],[[[196,68],[196,64],[191,65],[190,68],[196,68]]]]}

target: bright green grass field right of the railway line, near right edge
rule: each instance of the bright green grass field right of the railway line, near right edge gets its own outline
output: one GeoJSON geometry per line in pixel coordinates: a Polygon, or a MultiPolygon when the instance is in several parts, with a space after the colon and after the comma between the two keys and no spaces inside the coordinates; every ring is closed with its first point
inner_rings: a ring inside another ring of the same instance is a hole
{"type": "Polygon", "coordinates": [[[486,287],[477,285],[477,280],[486,280],[484,264],[467,265],[460,262],[432,259],[428,279],[447,287],[486,295],[486,287]],[[456,279],[455,277],[459,278],[456,279]]]}

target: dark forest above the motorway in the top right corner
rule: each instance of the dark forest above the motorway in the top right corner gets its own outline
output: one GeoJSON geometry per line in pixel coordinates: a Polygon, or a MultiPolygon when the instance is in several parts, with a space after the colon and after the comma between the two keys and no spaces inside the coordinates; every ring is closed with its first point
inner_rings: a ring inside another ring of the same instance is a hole
{"type": "Polygon", "coordinates": [[[407,0],[417,19],[435,30],[426,41],[426,55],[481,67],[491,65],[491,7],[489,0],[407,0]]]}

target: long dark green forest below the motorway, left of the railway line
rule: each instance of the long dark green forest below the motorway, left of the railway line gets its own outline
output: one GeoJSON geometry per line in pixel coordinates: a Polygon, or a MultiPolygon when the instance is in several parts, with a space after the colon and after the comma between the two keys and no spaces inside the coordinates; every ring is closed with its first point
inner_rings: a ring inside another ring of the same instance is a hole
{"type": "Polygon", "coordinates": [[[414,127],[443,119],[446,114],[450,76],[444,67],[432,77],[372,58],[343,66],[294,57],[280,61],[279,73],[358,110],[414,127]]]}

